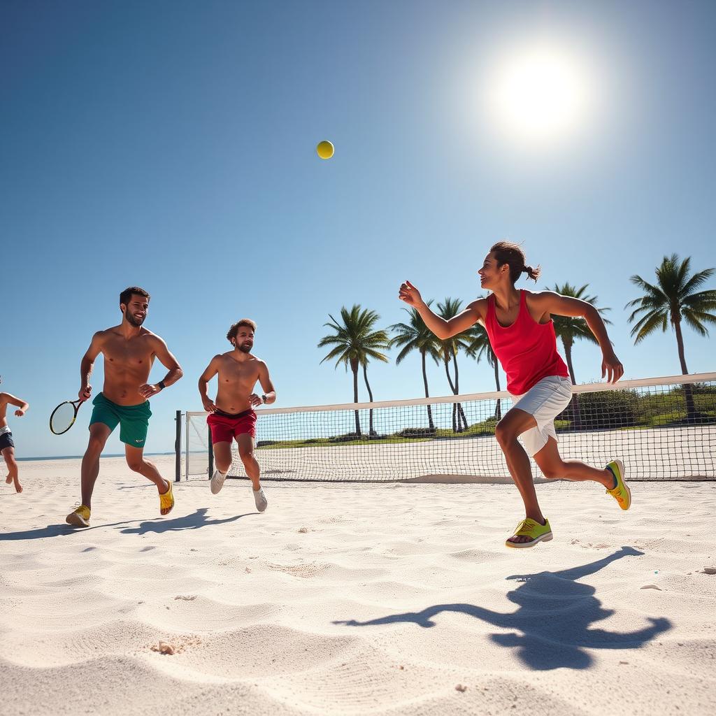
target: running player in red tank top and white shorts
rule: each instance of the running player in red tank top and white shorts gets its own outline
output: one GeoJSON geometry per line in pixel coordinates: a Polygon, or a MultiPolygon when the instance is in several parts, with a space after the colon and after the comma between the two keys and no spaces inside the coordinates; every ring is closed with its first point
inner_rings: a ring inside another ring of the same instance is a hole
{"type": "Polygon", "coordinates": [[[495,437],[525,505],[525,519],[505,542],[516,548],[533,547],[552,539],[551,526],[537,501],[529,456],[546,478],[593,480],[604,485],[621,509],[628,510],[632,503],[621,460],[612,460],[604,469],[579,460],[563,460],[554,430],[554,418],[571,400],[571,383],[566,364],[557,352],[551,315],[581,316],[586,320],[601,347],[601,375],[616,382],[624,374],[624,367],[611,348],[604,321],[586,301],[553,291],[516,289],[515,283],[523,273],[536,282],[540,269],[526,265],[525,255],[516,244],[495,243],[478,271],[480,286],[490,295],[473,301],[449,320],[435,315],[410,281],[400,286],[400,299],[417,309],[425,325],[441,340],[480,321],[507,374],[507,390],[514,404],[495,427],[495,437]]]}

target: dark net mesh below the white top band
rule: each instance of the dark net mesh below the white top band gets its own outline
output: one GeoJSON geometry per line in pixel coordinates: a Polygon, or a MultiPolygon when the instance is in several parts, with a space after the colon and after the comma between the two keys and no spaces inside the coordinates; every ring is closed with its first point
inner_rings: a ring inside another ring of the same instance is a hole
{"type": "MultiPolygon", "coordinates": [[[[271,479],[508,478],[495,425],[512,405],[500,392],[257,410],[255,457],[271,479]]],[[[188,477],[208,474],[205,416],[187,414],[188,477]]],[[[716,374],[576,386],[555,427],[565,459],[619,458],[631,480],[716,479],[716,374]]],[[[236,443],[229,475],[246,475],[236,443]]]]}

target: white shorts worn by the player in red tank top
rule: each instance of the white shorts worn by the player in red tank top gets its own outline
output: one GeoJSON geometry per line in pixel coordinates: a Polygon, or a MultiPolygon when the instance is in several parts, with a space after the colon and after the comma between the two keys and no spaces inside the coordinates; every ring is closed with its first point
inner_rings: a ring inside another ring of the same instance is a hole
{"type": "Polygon", "coordinates": [[[537,421],[537,427],[531,427],[520,435],[530,457],[538,453],[550,437],[559,442],[554,430],[554,419],[569,405],[571,399],[572,384],[569,378],[559,375],[548,375],[523,395],[513,395],[512,407],[528,412],[537,421]]]}

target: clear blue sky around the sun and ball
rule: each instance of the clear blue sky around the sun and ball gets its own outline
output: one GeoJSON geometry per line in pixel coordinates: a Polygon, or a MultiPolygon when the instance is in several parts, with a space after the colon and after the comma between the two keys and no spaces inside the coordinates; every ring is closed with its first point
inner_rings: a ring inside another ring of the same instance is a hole
{"type": "MultiPolygon", "coordinates": [[[[678,373],[672,335],[634,347],[623,307],[665,253],[716,265],[715,31],[707,1],[5,0],[0,374],[32,404],[17,454],[83,452],[89,410],[63,437],[47,419],[127,285],[185,370],[152,403],[147,450],[164,451],[233,321],[257,321],[277,406],[345,402],[350,374],[319,364],[328,314],[400,321],[405,278],[473,299],[500,238],[541,263],[539,286],[588,283],[611,306],[626,377],[678,373]],[[495,58],[536,41],[584,59],[591,109],[526,145],[485,97],[495,58]]],[[[708,347],[687,329],[691,372],[713,369],[708,347]]],[[[596,347],[574,362],[599,378],[596,347]]],[[[462,392],[493,389],[485,364],[460,368],[462,392]]],[[[422,393],[417,356],[369,376],[377,400],[422,393]]],[[[430,387],[448,392],[437,367],[430,387]]]]}

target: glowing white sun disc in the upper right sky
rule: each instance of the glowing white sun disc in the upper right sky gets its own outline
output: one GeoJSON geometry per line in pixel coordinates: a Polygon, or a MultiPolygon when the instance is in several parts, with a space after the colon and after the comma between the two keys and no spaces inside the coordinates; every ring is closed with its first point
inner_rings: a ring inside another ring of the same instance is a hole
{"type": "Polygon", "coordinates": [[[523,140],[550,140],[579,128],[589,78],[575,57],[532,47],[504,57],[490,78],[490,107],[501,129],[523,140]]]}

